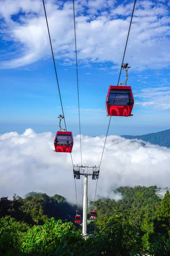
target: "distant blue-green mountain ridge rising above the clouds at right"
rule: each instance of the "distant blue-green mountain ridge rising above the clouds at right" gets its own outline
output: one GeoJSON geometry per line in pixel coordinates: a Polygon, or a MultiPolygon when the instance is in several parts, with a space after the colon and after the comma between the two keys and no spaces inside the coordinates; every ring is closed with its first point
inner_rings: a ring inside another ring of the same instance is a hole
{"type": "Polygon", "coordinates": [[[132,135],[122,135],[125,139],[133,140],[144,140],[151,144],[163,146],[170,148],[170,129],[165,131],[159,131],[151,134],[139,135],[139,136],[132,136],[132,135]]]}

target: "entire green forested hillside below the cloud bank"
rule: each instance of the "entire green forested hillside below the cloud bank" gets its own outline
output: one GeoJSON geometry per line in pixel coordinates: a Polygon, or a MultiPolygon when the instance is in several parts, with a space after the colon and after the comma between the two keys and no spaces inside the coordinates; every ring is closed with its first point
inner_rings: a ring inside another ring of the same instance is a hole
{"type": "Polygon", "coordinates": [[[31,192],[25,199],[0,198],[0,255],[169,256],[169,191],[163,200],[156,196],[156,186],[125,186],[115,192],[122,200],[90,203],[88,210],[95,205],[98,216],[88,225],[93,235],[87,239],[73,219],[67,222],[76,208],[60,195],[31,192]]]}

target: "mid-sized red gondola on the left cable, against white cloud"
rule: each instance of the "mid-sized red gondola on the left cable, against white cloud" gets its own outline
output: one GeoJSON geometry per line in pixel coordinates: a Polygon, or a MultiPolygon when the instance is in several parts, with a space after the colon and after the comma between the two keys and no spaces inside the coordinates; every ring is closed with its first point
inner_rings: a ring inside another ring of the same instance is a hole
{"type": "Polygon", "coordinates": [[[73,135],[71,131],[57,131],[54,139],[56,152],[71,153],[73,148],[73,135]]]}

